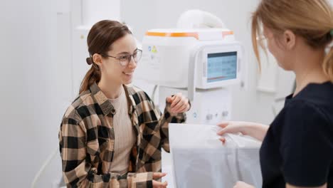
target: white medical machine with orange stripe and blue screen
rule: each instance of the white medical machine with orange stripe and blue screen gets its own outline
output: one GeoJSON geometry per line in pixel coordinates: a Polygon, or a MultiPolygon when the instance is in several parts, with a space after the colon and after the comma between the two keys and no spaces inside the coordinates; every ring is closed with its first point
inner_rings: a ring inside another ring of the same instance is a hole
{"type": "Polygon", "coordinates": [[[183,93],[191,101],[187,122],[216,124],[231,117],[228,85],[241,83],[243,47],[225,28],[147,31],[137,78],[159,85],[159,106],[183,93]]]}

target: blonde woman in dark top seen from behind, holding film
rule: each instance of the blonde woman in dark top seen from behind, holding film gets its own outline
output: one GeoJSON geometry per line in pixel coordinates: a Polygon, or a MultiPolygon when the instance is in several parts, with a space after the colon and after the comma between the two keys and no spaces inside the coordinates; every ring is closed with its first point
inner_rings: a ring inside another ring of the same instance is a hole
{"type": "MultiPolygon", "coordinates": [[[[258,61],[265,40],[279,66],[295,73],[297,87],[270,127],[223,122],[218,134],[242,132],[263,140],[263,187],[333,187],[332,38],[332,5],[325,0],[262,0],[253,14],[258,61]]],[[[237,182],[240,187],[252,186],[237,182]]]]}

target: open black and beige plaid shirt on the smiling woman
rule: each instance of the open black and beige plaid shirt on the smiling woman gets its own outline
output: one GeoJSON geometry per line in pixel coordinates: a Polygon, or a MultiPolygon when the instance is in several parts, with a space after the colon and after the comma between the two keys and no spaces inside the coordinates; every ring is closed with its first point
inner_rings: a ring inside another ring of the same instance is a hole
{"type": "Polygon", "coordinates": [[[60,155],[68,187],[152,187],[152,172],[161,172],[161,147],[169,152],[169,122],[184,122],[186,116],[171,116],[166,110],[169,104],[162,115],[143,90],[124,88],[137,135],[128,173],[110,173],[115,144],[113,115],[117,112],[94,83],[74,100],[60,125],[60,155]]]}

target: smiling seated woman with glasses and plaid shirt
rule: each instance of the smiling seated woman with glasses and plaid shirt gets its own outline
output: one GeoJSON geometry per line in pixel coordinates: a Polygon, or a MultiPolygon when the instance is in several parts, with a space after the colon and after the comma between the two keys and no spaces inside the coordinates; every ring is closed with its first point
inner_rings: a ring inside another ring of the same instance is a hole
{"type": "Polygon", "coordinates": [[[162,114],[143,90],[128,85],[141,58],[127,26],[95,23],[88,34],[91,65],[60,125],[68,187],[166,187],[159,182],[169,122],[184,122],[189,100],[166,98],[162,114]]]}

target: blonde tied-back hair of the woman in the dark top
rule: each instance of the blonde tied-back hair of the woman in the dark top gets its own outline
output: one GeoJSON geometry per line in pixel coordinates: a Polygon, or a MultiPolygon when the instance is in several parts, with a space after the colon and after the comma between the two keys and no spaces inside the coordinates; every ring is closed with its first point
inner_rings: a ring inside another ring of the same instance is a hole
{"type": "MultiPolygon", "coordinates": [[[[314,49],[326,48],[333,38],[332,5],[326,0],[262,0],[252,17],[252,43],[260,67],[258,36],[261,24],[275,33],[290,30],[305,39],[314,49]]],[[[333,82],[333,48],[329,48],[322,63],[324,73],[333,82]]]]}

